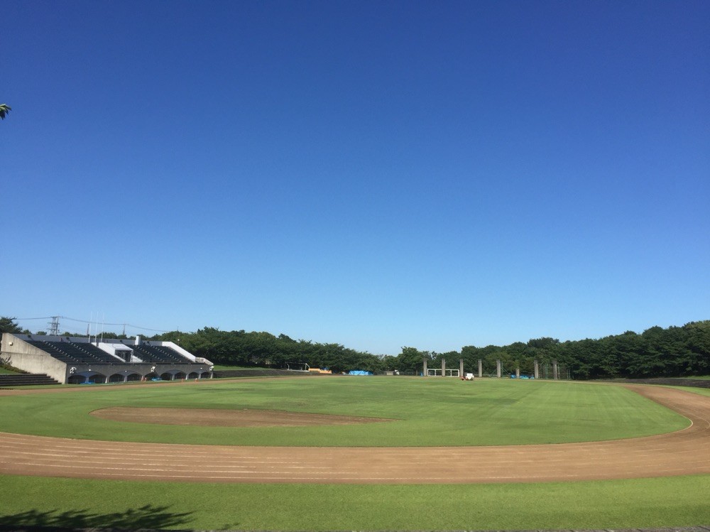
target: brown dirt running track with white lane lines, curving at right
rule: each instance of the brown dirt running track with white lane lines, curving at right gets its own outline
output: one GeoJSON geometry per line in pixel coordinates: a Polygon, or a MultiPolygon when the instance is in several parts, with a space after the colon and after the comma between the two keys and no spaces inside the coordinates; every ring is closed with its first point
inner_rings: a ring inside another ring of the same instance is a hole
{"type": "Polygon", "coordinates": [[[675,433],[512,447],[229,447],[0,433],[0,473],[181,482],[469,484],[710,474],[710,397],[628,386],[692,420],[675,433]]]}

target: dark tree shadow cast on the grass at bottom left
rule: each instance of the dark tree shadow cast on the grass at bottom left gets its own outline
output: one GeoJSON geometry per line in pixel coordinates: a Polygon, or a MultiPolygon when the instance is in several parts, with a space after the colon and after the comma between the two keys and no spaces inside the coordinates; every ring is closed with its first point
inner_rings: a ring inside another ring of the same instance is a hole
{"type": "Polygon", "coordinates": [[[191,521],[192,512],[176,513],[170,506],[146,504],[113,514],[100,514],[89,510],[28,510],[19,514],[0,515],[0,532],[31,532],[51,528],[112,528],[137,530],[139,528],[171,528],[191,521]]]}

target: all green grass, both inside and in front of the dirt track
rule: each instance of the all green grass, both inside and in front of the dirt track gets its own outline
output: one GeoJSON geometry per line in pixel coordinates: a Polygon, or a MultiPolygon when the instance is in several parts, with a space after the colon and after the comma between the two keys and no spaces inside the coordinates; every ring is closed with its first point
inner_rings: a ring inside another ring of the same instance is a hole
{"type": "MultiPolygon", "coordinates": [[[[701,391],[703,393],[705,391],[701,391]]],[[[105,386],[0,398],[0,430],[262,445],[522,445],[628,438],[687,420],[621,386],[313,378],[105,386]],[[279,408],[397,419],[327,428],[146,426],[105,406],[279,408]],[[120,430],[119,430],[120,429],[120,430]]],[[[542,484],[196,484],[0,476],[0,524],[279,531],[530,530],[710,523],[710,476],[542,484]]]]}

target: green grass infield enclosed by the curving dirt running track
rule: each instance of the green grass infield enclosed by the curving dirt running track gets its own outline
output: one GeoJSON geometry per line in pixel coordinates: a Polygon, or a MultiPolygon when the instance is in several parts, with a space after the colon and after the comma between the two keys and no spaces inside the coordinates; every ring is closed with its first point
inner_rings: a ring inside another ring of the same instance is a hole
{"type": "Polygon", "coordinates": [[[510,379],[300,377],[106,386],[0,398],[0,430],[160,443],[308,446],[523,445],[667,433],[687,419],[621,386],[510,379]],[[103,420],[109,406],[261,408],[388,423],[225,428],[103,420]]]}

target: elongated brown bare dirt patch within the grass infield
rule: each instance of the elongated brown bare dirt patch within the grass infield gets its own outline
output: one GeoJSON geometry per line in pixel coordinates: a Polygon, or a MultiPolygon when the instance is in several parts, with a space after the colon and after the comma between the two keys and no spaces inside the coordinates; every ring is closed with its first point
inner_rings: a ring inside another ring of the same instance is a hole
{"type": "Polygon", "coordinates": [[[92,416],[114,421],[153,425],[199,425],[202,427],[310,427],[314,425],[356,425],[391,421],[281,410],[216,410],[210,408],[130,408],[114,406],[91,412],[92,416]]]}

